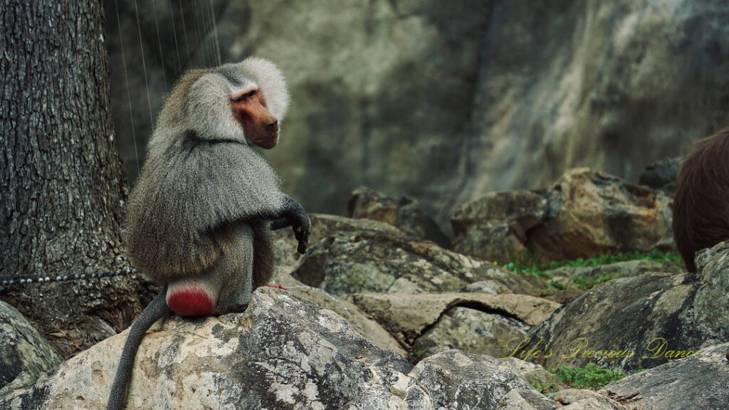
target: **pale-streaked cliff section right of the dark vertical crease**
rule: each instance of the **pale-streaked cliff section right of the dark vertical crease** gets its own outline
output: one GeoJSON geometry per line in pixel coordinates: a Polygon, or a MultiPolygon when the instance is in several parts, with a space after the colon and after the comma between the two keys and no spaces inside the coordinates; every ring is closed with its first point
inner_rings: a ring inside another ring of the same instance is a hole
{"type": "Polygon", "coordinates": [[[571,166],[631,180],[727,125],[722,1],[501,1],[483,37],[472,194],[571,166]]]}

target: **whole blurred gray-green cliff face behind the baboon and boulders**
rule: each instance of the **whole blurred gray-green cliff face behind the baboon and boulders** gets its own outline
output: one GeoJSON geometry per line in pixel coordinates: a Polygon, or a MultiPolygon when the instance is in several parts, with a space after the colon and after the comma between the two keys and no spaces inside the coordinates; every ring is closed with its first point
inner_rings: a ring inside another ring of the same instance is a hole
{"type": "MultiPolygon", "coordinates": [[[[140,6],[149,107],[135,10],[119,7],[139,156],[148,111],[180,69],[217,61],[217,38],[221,61],[261,55],[289,79],[292,108],[266,155],[313,211],[343,213],[362,184],[407,193],[443,220],[456,202],[545,186],[573,166],[636,180],[727,123],[720,0],[158,0],[140,6]]],[[[133,177],[107,9],[114,120],[133,177]]]]}

